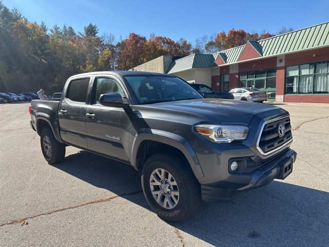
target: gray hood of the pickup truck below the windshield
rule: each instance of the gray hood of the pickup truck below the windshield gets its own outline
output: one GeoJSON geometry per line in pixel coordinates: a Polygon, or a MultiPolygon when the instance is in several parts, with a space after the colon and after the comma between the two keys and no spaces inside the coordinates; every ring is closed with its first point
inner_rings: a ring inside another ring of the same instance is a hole
{"type": "Polygon", "coordinates": [[[154,104],[134,105],[143,118],[167,121],[249,125],[252,117],[262,112],[279,109],[273,105],[226,99],[193,99],[154,104]]]}

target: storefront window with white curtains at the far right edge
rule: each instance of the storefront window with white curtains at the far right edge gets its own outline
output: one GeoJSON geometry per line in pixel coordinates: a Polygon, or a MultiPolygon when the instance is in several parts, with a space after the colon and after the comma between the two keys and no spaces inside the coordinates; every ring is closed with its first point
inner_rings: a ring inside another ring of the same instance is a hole
{"type": "Polygon", "coordinates": [[[327,94],[328,62],[286,67],[286,94],[327,94]]]}

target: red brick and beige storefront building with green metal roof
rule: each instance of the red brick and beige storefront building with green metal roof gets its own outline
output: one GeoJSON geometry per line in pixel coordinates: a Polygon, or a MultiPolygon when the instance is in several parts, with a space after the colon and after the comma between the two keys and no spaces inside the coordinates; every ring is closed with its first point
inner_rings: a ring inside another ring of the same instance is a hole
{"type": "Polygon", "coordinates": [[[253,86],[272,92],[277,102],[329,103],[329,22],[173,59],[163,72],[216,91],[253,86]]]}

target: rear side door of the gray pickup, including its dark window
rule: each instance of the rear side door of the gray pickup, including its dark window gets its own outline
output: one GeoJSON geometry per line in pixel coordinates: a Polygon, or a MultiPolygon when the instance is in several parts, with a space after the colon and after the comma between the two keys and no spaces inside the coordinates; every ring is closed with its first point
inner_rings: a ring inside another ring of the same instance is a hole
{"type": "Polygon", "coordinates": [[[71,80],[60,102],[58,119],[62,139],[74,146],[87,148],[86,99],[90,77],[71,80]]]}

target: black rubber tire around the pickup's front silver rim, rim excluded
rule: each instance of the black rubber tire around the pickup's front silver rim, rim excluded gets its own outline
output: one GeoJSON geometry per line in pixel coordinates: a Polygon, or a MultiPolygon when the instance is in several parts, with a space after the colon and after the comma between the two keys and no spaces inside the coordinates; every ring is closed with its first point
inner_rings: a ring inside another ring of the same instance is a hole
{"type": "Polygon", "coordinates": [[[142,170],[141,182],[144,196],[150,207],[163,220],[172,222],[187,220],[201,205],[200,184],[190,165],[180,155],[154,154],[149,157],[142,170]],[[152,172],[159,168],[170,172],[179,188],[179,200],[172,209],[159,205],[151,192],[150,177],[152,172]]]}

